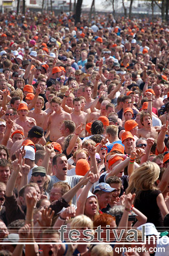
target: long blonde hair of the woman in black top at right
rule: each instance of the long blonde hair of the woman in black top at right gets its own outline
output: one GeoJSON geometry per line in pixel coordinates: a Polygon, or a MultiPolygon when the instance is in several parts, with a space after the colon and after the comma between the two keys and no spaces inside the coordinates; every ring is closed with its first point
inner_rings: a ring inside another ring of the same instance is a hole
{"type": "Polygon", "coordinates": [[[126,194],[138,194],[143,190],[155,190],[154,183],[158,180],[159,172],[158,164],[151,163],[150,161],[143,163],[132,173],[126,194]]]}

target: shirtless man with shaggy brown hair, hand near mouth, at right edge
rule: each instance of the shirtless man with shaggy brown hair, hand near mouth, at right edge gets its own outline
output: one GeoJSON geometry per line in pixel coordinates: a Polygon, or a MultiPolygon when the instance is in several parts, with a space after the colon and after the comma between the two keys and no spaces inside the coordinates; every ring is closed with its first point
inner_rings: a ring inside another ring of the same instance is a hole
{"type": "Polygon", "coordinates": [[[157,140],[158,132],[156,128],[152,127],[152,118],[149,113],[142,113],[140,116],[141,124],[144,126],[138,130],[138,138],[154,138],[157,140]]]}

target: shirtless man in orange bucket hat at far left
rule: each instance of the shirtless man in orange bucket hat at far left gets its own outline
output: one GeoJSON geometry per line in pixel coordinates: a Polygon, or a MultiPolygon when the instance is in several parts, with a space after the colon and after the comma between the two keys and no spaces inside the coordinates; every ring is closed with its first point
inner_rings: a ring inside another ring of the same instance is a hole
{"type": "Polygon", "coordinates": [[[16,124],[19,124],[19,126],[22,126],[24,129],[24,136],[28,136],[29,130],[36,126],[36,121],[34,118],[28,117],[28,106],[25,103],[19,104],[18,107],[18,116],[19,118],[16,119],[16,124]]]}

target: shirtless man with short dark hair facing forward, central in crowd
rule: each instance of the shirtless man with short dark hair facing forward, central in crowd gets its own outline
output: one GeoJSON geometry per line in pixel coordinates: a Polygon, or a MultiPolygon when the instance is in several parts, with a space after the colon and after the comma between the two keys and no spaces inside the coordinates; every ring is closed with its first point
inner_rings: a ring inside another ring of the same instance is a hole
{"type": "Polygon", "coordinates": [[[85,127],[87,123],[87,116],[88,114],[81,111],[81,100],[80,98],[75,98],[73,101],[74,104],[74,111],[71,113],[72,121],[75,123],[75,127],[80,126],[83,123],[82,128],[84,130],[78,135],[80,138],[84,138],[86,136],[85,127]]]}

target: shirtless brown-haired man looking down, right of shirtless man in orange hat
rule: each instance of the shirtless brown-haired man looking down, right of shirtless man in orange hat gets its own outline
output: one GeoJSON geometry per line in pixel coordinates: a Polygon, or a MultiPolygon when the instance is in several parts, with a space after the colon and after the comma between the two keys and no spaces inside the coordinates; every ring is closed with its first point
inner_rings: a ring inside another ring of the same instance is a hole
{"type": "Polygon", "coordinates": [[[71,120],[71,115],[62,110],[61,99],[59,97],[54,97],[51,99],[52,110],[46,115],[45,121],[43,123],[43,130],[48,129],[50,125],[50,136],[49,140],[56,141],[60,138],[60,127],[63,120],[71,120]]]}

